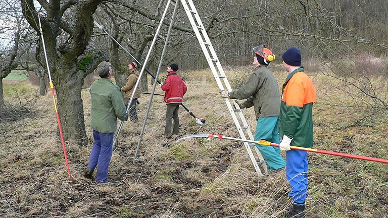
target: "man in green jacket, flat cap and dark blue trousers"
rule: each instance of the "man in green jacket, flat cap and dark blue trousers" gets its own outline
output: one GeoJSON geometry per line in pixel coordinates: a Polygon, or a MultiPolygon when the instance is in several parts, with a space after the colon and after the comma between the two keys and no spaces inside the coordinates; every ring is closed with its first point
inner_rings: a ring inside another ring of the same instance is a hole
{"type": "Polygon", "coordinates": [[[113,151],[113,133],[117,129],[117,118],[126,121],[128,114],[125,113],[126,108],[120,88],[111,80],[113,72],[110,63],[101,62],[96,72],[101,79],[94,81],[90,87],[90,124],[93,128],[94,143],[84,177],[91,179],[97,167],[95,181],[106,183],[113,151]]]}

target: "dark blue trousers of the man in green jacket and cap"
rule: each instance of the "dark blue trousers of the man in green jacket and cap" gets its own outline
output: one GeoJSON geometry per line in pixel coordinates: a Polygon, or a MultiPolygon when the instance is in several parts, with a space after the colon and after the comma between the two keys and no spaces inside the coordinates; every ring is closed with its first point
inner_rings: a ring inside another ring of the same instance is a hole
{"type": "Polygon", "coordinates": [[[108,181],[108,168],[113,152],[113,133],[101,133],[93,130],[93,148],[90,152],[88,168],[97,167],[95,181],[105,183],[108,181]]]}

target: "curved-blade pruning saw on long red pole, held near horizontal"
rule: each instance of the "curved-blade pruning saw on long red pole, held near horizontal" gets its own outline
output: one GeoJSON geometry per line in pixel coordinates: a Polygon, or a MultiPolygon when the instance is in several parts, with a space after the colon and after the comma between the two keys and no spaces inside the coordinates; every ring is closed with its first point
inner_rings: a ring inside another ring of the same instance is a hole
{"type": "MultiPolygon", "coordinates": [[[[199,137],[208,138],[208,139],[211,139],[211,138],[229,139],[229,140],[233,140],[233,141],[250,142],[250,143],[256,143],[259,145],[279,147],[279,144],[272,143],[272,142],[262,140],[262,139],[260,139],[259,141],[254,141],[254,140],[249,140],[249,139],[240,139],[240,138],[233,138],[233,137],[227,137],[227,136],[223,136],[223,135],[213,135],[213,134],[190,135],[190,136],[180,138],[177,141],[181,141],[181,140],[189,139],[189,138],[199,138],[199,137]]],[[[355,154],[347,154],[347,153],[340,153],[340,152],[334,152],[334,151],[325,151],[325,150],[304,148],[304,147],[298,147],[298,146],[290,146],[290,148],[294,149],[294,150],[310,151],[310,152],[314,152],[314,153],[322,153],[322,154],[329,154],[329,155],[334,155],[334,156],[342,156],[342,157],[349,157],[349,158],[354,158],[354,159],[362,159],[362,160],[368,160],[368,161],[388,163],[387,159],[360,156],[360,155],[355,155],[355,154]]]]}

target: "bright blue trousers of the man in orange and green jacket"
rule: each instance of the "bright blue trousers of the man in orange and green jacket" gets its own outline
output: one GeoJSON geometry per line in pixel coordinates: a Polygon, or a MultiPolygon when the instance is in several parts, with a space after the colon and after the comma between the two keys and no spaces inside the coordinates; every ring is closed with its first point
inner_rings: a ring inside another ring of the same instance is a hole
{"type": "Polygon", "coordinates": [[[292,197],[294,203],[305,205],[307,197],[307,172],[309,163],[307,162],[307,151],[288,150],[285,151],[286,170],[285,175],[291,186],[288,196],[292,197]]]}

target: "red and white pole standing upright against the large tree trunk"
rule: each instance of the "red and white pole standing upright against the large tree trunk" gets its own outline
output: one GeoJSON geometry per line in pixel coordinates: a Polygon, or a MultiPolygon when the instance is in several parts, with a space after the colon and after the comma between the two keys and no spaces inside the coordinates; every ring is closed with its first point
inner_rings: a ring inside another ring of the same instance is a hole
{"type": "Polygon", "coordinates": [[[50,80],[49,84],[50,84],[51,92],[52,92],[52,94],[53,94],[54,108],[55,108],[55,113],[57,114],[57,121],[58,121],[59,134],[61,135],[61,142],[62,142],[63,154],[64,154],[64,156],[65,156],[67,174],[68,174],[68,176],[69,176],[69,181],[71,181],[69,162],[68,162],[68,160],[67,160],[67,154],[66,154],[65,140],[63,139],[61,120],[59,119],[59,113],[58,113],[58,108],[57,108],[57,102],[56,102],[56,100],[55,100],[54,84],[53,84],[53,81],[52,81],[52,79],[51,79],[51,72],[50,72],[50,67],[49,67],[49,60],[47,59],[46,46],[45,46],[45,43],[44,43],[44,37],[43,37],[43,31],[42,31],[42,24],[41,24],[41,22],[40,22],[40,15],[39,15],[39,14],[40,14],[40,13],[38,13],[39,30],[40,30],[40,37],[41,37],[41,39],[42,39],[44,58],[45,58],[45,60],[46,60],[47,73],[49,73],[49,80],[50,80]]]}

